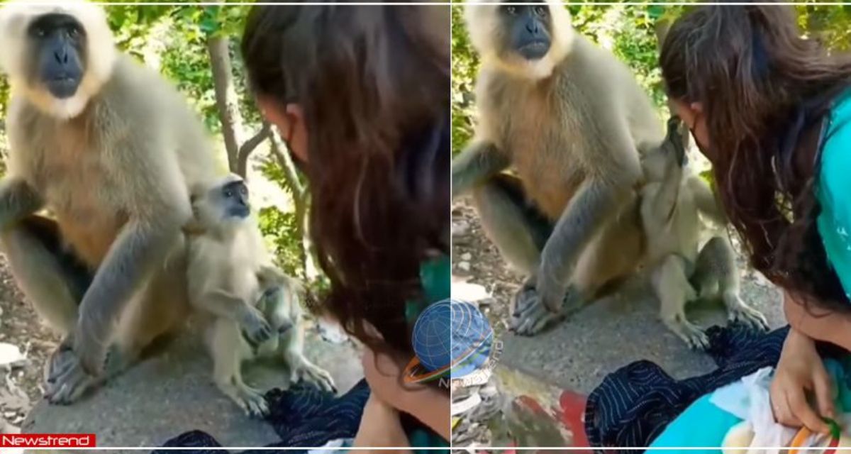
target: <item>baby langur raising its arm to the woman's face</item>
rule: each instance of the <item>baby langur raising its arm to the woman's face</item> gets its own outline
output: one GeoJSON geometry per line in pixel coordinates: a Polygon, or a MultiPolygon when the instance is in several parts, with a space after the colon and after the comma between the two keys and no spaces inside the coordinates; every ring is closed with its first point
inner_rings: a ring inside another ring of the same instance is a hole
{"type": "Polygon", "coordinates": [[[739,273],[733,247],[723,236],[711,238],[699,252],[700,218],[726,223],[711,188],[699,175],[687,174],[688,130],[677,117],[658,148],[641,159],[645,185],[641,218],[647,235],[647,264],[668,328],[692,348],[708,347],[708,338],[686,319],[686,303],[721,296],[730,320],[768,329],[762,313],[739,297],[739,273]]]}

